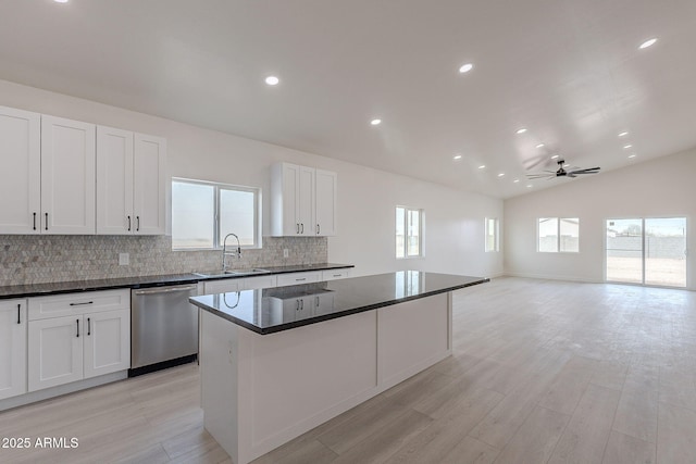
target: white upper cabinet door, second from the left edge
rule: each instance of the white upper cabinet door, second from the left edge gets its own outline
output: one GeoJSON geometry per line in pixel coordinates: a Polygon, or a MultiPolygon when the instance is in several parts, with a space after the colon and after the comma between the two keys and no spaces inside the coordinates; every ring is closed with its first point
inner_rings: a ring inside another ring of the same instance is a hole
{"type": "Polygon", "coordinates": [[[96,126],[41,116],[41,234],[96,233],[96,126]]]}

